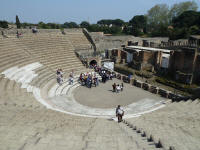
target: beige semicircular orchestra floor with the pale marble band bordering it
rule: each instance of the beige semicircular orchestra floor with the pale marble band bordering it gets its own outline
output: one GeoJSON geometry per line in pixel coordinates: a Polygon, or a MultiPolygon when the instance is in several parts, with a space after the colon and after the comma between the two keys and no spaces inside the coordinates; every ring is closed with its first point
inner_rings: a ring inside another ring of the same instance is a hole
{"type": "Polygon", "coordinates": [[[129,84],[124,84],[123,92],[112,93],[113,82],[118,83],[119,80],[101,83],[99,87],[92,89],[76,82],[74,85],[67,86],[69,90],[66,94],[53,94],[54,96],[52,95],[53,97],[50,97],[48,101],[54,105],[52,108],[54,110],[98,118],[115,118],[115,108],[118,104],[121,104],[125,110],[124,118],[138,117],[165,106],[163,102],[166,99],[129,84]]]}

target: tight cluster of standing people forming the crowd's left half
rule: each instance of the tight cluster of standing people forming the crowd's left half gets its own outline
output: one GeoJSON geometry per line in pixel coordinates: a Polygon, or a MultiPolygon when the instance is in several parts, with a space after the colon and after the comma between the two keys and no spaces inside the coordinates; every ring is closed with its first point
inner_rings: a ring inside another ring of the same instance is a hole
{"type": "Polygon", "coordinates": [[[81,73],[79,80],[81,82],[81,85],[85,85],[88,88],[91,88],[92,85],[94,85],[95,87],[99,85],[99,79],[96,76],[96,73],[93,75],[91,73],[81,73]]]}

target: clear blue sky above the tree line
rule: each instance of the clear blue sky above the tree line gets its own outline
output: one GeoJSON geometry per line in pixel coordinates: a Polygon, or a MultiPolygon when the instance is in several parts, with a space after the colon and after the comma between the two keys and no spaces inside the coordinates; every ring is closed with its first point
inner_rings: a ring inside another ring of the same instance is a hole
{"type": "MultiPolygon", "coordinates": [[[[101,19],[122,19],[129,21],[135,15],[146,14],[156,4],[175,3],[186,0],[1,0],[0,20],[15,22],[64,23],[88,21],[96,23],[101,19]]],[[[200,7],[200,0],[194,0],[200,7]]],[[[199,9],[200,10],[200,9],[199,9]]]]}

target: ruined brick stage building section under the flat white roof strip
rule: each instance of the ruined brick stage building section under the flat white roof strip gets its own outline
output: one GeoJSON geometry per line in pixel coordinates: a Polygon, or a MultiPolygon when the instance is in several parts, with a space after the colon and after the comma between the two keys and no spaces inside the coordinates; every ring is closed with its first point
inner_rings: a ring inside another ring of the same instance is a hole
{"type": "Polygon", "coordinates": [[[168,69],[172,50],[141,46],[127,46],[127,63],[138,70],[168,69]]]}

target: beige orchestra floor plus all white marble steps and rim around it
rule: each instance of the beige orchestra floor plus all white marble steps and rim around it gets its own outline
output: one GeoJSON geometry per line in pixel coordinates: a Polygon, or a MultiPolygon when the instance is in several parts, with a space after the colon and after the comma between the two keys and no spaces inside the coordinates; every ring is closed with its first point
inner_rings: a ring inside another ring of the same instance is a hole
{"type": "Polygon", "coordinates": [[[140,88],[124,84],[124,91],[121,93],[112,92],[112,84],[120,84],[120,80],[114,79],[106,84],[101,83],[99,87],[88,89],[81,86],[77,79],[73,85],[68,84],[68,79],[62,86],[55,80],[49,80],[43,88],[32,86],[30,83],[38,76],[36,68],[42,64],[35,62],[23,67],[12,67],[1,74],[6,78],[22,83],[21,88],[26,88],[27,92],[32,92],[35,99],[49,109],[64,113],[100,118],[115,117],[115,108],[121,104],[125,110],[124,118],[140,116],[141,114],[164,107],[164,98],[151,94],[140,88]],[[51,88],[49,87],[51,85],[51,88]]]}

